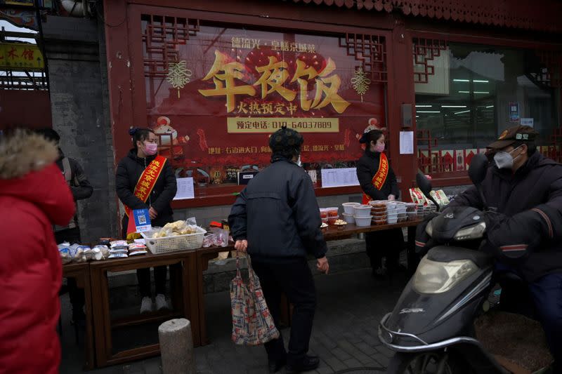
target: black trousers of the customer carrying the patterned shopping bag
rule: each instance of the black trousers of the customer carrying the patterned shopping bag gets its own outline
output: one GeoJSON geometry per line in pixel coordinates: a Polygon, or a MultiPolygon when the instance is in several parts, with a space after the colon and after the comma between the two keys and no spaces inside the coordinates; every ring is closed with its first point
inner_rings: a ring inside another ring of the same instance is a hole
{"type": "Polygon", "coordinates": [[[316,290],[311,269],[305,258],[291,262],[273,263],[252,261],[252,267],[261,282],[263,296],[275,326],[279,329],[281,294],[285,293],[294,306],[289,338],[289,352],[285,351],[283,337],[265,344],[268,359],[280,360],[287,356],[287,363],[300,363],[308,352],[312,323],[316,308],[316,290]]]}

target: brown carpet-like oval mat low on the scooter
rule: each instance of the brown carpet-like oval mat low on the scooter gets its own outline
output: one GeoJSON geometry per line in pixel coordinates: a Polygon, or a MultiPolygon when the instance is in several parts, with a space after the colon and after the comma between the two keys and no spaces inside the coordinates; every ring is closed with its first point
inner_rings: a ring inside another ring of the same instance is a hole
{"type": "Polygon", "coordinates": [[[474,328],[483,347],[514,373],[534,373],[553,361],[540,323],[521,314],[488,312],[474,328]]]}

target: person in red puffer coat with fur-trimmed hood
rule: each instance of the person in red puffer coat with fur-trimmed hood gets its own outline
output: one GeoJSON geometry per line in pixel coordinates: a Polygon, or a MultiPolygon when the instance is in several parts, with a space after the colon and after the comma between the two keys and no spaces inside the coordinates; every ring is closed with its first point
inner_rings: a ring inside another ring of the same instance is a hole
{"type": "Polygon", "coordinates": [[[1,373],[58,373],[63,267],[52,225],[67,225],[74,199],[57,158],[40,135],[0,135],[1,373]]]}

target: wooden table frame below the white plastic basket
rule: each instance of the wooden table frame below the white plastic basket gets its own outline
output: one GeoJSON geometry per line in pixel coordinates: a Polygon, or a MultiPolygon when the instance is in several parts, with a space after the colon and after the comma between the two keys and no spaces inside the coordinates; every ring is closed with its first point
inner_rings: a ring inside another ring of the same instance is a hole
{"type": "Polygon", "coordinates": [[[98,366],[115,365],[126,361],[143,359],[159,354],[159,345],[127,349],[114,354],[112,352],[112,329],[122,326],[133,326],[148,322],[166,321],[171,318],[185,316],[191,321],[192,338],[195,346],[200,345],[199,309],[197,300],[197,265],[195,251],[176,251],[153,255],[90,262],[91,288],[94,290],[93,326],[96,334],[96,356],[98,366]],[[123,272],[126,270],[145,267],[170,266],[171,286],[181,293],[175,293],[172,298],[174,309],[181,305],[181,313],[154,312],[133,316],[129,319],[112,321],[110,317],[109,287],[107,272],[123,272]],[[173,266],[175,265],[175,266],[173,266]],[[181,273],[181,274],[177,274],[181,273]],[[178,276],[172,276],[172,274],[178,276]],[[176,283],[174,283],[174,279],[176,283]]]}

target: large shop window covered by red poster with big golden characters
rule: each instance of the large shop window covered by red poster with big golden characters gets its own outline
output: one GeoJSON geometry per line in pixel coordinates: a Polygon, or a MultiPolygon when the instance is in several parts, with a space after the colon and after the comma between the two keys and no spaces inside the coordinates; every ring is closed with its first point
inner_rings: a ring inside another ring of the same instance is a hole
{"type": "Polygon", "coordinates": [[[383,36],[156,15],[143,15],[142,31],[148,125],[176,175],[195,179],[195,197],[240,191],[239,173],[270,163],[268,139],[282,125],[303,134],[316,187],[323,169],[355,166],[365,128],[385,126],[383,36]]]}

